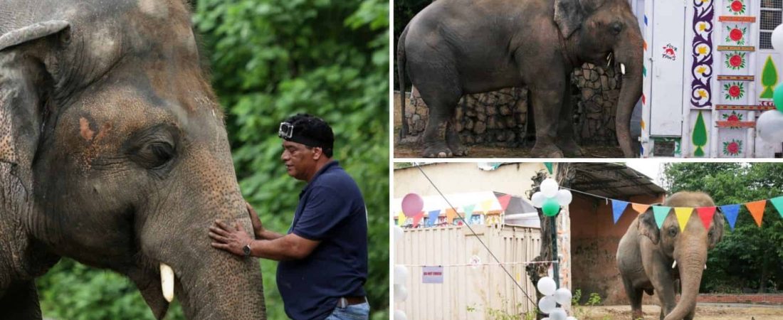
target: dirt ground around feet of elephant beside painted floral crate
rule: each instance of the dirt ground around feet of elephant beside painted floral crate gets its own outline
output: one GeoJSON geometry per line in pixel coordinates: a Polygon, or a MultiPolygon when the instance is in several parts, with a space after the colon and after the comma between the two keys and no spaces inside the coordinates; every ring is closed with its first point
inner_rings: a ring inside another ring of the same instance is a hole
{"type": "MultiPolygon", "coordinates": [[[[410,106],[410,103],[406,104],[410,106]]],[[[394,157],[395,158],[418,158],[420,157],[422,146],[415,142],[399,142],[399,131],[402,127],[402,113],[399,107],[399,95],[395,94],[394,99],[394,157]]],[[[529,146],[518,148],[493,147],[493,146],[467,146],[467,157],[469,158],[526,158],[530,155],[532,142],[529,146]]],[[[617,146],[583,146],[583,157],[586,158],[619,158],[622,157],[622,150],[617,146]]],[[[781,318],[783,320],[783,318],[781,318]]]]}

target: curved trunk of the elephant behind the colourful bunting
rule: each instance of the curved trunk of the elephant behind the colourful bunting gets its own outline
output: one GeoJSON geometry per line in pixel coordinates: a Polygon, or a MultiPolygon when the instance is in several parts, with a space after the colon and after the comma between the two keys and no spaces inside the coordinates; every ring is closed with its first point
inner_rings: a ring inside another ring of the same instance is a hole
{"type": "MultiPolygon", "coordinates": [[[[698,243],[692,243],[691,248],[699,248],[698,243]]],[[[682,293],[677,306],[666,315],[664,320],[682,320],[696,308],[698,287],[702,283],[702,272],[707,261],[707,250],[701,245],[702,250],[695,250],[680,254],[677,265],[680,267],[680,283],[682,293]]]]}

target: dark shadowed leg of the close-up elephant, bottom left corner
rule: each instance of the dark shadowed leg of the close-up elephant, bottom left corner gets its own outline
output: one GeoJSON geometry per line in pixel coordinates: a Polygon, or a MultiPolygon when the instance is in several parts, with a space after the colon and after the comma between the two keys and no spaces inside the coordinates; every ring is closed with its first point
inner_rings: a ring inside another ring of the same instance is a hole
{"type": "Polygon", "coordinates": [[[35,281],[14,282],[0,297],[0,320],[41,319],[38,290],[35,281]]]}

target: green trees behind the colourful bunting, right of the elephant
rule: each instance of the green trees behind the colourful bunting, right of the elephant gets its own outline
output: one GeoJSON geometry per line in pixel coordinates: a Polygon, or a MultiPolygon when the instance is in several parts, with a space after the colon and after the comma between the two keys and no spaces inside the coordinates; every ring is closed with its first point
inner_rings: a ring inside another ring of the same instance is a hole
{"type": "MultiPolygon", "coordinates": [[[[671,192],[703,191],[718,206],[783,196],[783,163],[667,164],[664,174],[671,192]]],[[[783,290],[783,217],[767,202],[759,228],[741,208],[734,231],[726,223],[723,239],[709,251],[702,293],[783,290]]]]}

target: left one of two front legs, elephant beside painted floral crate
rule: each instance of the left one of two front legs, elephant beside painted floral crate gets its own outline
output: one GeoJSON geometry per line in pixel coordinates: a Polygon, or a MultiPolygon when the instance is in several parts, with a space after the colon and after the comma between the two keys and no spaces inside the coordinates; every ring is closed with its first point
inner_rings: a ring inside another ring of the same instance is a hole
{"type": "Polygon", "coordinates": [[[557,117],[563,102],[563,81],[561,83],[536,84],[530,88],[530,100],[535,110],[536,145],[530,150],[530,156],[561,158],[563,153],[555,144],[557,138],[557,117]]]}

